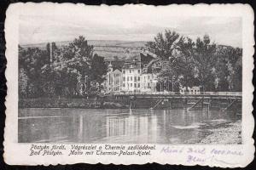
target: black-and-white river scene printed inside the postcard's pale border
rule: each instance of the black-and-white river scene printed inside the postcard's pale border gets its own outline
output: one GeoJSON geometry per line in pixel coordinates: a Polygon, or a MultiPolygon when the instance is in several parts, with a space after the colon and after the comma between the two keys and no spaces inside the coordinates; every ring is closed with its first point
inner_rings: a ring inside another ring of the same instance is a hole
{"type": "Polygon", "coordinates": [[[241,17],[19,16],[19,143],[242,144],[241,17]]]}

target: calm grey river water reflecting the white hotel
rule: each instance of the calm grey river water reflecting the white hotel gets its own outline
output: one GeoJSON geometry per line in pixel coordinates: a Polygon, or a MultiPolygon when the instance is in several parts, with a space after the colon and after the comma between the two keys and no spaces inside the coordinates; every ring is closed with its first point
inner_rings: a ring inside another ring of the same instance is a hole
{"type": "Polygon", "coordinates": [[[240,121],[236,113],[223,111],[20,109],[18,140],[195,144],[211,129],[240,121]]]}

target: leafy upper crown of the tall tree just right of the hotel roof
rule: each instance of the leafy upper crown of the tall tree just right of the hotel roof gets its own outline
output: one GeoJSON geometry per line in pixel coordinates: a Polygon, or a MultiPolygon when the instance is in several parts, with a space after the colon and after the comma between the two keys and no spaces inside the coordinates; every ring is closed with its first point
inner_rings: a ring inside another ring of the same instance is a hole
{"type": "Polygon", "coordinates": [[[148,51],[156,54],[162,60],[170,60],[171,62],[175,59],[173,50],[176,48],[176,42],[179,34],[175,31],[166,30],[165,34],[158,33],[154,37],[154,42],[147,42],[146,48],[148,51]]]}

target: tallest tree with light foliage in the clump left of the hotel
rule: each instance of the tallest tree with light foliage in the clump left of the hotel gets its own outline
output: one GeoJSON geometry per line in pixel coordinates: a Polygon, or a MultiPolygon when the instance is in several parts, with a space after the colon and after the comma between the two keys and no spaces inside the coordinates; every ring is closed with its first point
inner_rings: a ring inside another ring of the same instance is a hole
{"type": "Polygon", "coordinates": [[[48,75],[56,95],[67,96],[75,93],[78,78],[90,75],[92,55],[93,46],[80,36],[61,48],[52,65],[45,65],[44,75],[48,75]]]}

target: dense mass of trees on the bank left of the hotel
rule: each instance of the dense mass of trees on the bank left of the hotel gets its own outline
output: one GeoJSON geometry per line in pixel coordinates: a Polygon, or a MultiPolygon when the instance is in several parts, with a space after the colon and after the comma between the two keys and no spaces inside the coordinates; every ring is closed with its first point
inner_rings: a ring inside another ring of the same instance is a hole
{"type": "MultiPolygon", "coordinates": [[[[76,94],[79,77],[101,83],[107,65],[103,57],[93,54],[93,46],[79,37],[61,48],[55,43],[48,43],[46,49],[19,46],[19,71],[20,97],[61,97],[76,94]]],[[[87,86],[90,89],[90,83],[87,86]]]]}

